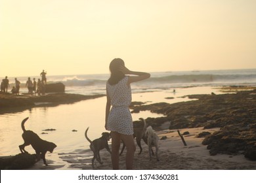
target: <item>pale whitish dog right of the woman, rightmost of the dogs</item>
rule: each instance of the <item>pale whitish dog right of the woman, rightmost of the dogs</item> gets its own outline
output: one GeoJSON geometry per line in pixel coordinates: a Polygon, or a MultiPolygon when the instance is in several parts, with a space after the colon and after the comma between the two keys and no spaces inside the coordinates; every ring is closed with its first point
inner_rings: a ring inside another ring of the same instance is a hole
{"type": "Polygon", "coordinates": [[[156,135],[156,133],[154,132],[154,130],[152,129],[152,126],[148,126],[146,128],[146,133],[145,133],[146,137],[148,138],[148,153],[150,155],[150,160],[152,157],[152,147],[155,146],[156,147],[156,159],[159,161],[158,158],[158,135],[156,135]]]}

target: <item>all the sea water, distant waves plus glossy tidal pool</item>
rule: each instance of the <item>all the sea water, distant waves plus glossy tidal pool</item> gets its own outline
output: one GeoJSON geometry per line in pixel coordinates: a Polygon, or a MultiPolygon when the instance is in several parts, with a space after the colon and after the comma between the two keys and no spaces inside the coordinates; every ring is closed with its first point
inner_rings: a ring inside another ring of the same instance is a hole
{"type": "MultiPolygon", "coordinates": [[[[190,94],[216,94],[222,93],[219,86],[256,86],[256,69],[229,70],[229,71],[191,71],[151,73],[151,78],[143,82],[132,84],[133,101],[144,103],[177,103],[190,101],[190,94]],[[175,90],[175,92],[173,92],[175,90]],[[172,97],[173,99],[168,99],[172,97]]],[[[70,75],[47,76],[49,82],[63,82],[66,93],[79,93],[83,95],[105,94],[106,80],[109,75],[70,75]]],[[[31,76],[33,78],[33,76],[31,76]]],[[[12,79],[9,78],[11,84],[12,79]]],[[[26,77],[18,80],[26,83],[26,77]]],[[[21,88],[26,93],[25,87],[21,88]]],[[[81,154],[89,148],[85,139],[85,129],[89,128],[89,138],[96,139],[101,136],[104,129],[106,97],[79,101],[73,104],[58,105],[56,107],[33,107],[16,113],[0,115],[0,156],[11,156],[20,153],[18,146],[23,143],[22,120],[29,117],[26,129],[32,130],[46,141],[54,142],[57,148],[53,154],[47,153],[47,158],[52,165],[60,165],[60,169],[72,169],[69,163],[62,161],[62,156],[81,154]],[[55,129],[54,131],[43,131],[55,129]],[[43,132],[46,134],[43,134],[43,132]]],[[[1,110],[1,108],[0,108],[1,110]]],[[[157,118],[162,114],[144,111],[132,114],[133,120],[139,118],[157,118]]],[[[31,154],[34,150],[26,147],[31,154]]]]}

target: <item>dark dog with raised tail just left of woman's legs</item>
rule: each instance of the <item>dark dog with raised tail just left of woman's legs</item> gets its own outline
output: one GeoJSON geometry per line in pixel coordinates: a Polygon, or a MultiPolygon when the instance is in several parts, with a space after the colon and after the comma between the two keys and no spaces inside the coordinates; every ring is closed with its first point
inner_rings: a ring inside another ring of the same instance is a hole
{"type": "Polygon", "coordinates": [[[90,144],[90,148],[93,151],[93,159],[92,159],[92,165],[93,165],[93,169],[95,168],[94,162],[95,159],[97,159],[97,161],[102,164],[102,161],[100,159],[100,150],[106,148],[106,150],[108,150],[108,152],[110,152],[110,148],[108,146],[108,141],[110,141],[111,136],[110,133],[108,132],[103,132],[102,133],[102,137],[95,139],[94,141],[91,141],[88,136],[87,136],[87,131],[88,131],[89,127],[87,127],[87,129],[85,130],[85,138],[87,139],[87,141],[89,141],[90,144]]]}

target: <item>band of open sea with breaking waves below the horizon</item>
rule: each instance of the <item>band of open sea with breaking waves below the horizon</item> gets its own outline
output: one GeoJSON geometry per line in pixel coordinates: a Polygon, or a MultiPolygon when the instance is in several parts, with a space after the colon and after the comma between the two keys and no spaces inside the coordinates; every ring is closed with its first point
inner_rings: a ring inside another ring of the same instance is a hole
{"type": "MultiPolygon", "coordinates": [[[[154,92],[171,88],[197,86],[256,86],[256,69],[216,70],[216,71],[175,71],[150,73],[147,80],[133,84],[133,93],[154,92]]],[[[105,94],[106,80],[110,74],[101,75],[62,75],[47,76],[48,83],[62,82],[66,93],[83,95],[105,94]]],[[[39,76],[30,76],[36,80],[39,76]]],[[[25,88],[28,77],[18,77],[22,82],[20,92],[28,92],[25,88]]],[[[11,86],[14,77],[9,77],[11,86]]]]}

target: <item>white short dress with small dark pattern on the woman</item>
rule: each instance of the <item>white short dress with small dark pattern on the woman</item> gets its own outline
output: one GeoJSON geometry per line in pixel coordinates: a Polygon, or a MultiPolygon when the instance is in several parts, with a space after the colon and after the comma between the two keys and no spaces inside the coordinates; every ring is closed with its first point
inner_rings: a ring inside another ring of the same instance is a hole
{"type": "Polygon", "coordinates": [[[133,118],[129,110],[131,104],[131,86],[125,76],[117,84],[106,84],[106,91],[111,99],[112,108],[108,115],[107,129],[123,135],[133,135],[133,118]]]}

